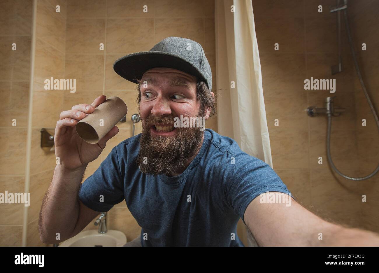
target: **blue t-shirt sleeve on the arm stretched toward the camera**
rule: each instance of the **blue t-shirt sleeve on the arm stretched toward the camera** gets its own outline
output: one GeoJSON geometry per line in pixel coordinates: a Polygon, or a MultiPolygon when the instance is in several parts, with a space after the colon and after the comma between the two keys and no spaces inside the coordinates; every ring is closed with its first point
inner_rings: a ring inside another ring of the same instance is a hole
{"type": "MultiPolygon", "coordinates": [[[[266,191],[278,191],[291,195],[287,186],[275,171],[262,160],[248,154],[235,156],[224,176],[223,187],[227,203],[245,223],[244,213],[250,202],[266,191]]],[[[292,196],[291,196],[292,197],[292,196]]],[[[245,223],[246,224],[246,223],[245,223]]]]}

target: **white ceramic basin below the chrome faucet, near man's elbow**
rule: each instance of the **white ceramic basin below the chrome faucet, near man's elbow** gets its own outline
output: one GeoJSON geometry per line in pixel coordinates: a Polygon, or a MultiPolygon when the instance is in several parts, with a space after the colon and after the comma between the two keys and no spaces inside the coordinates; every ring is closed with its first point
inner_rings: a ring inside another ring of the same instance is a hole
{"type": "Polygon", "coordinates": [[[100,234],[97,230],[79,232],[59,246],[124,246],[126,236],[121,231],[108,230],[100,234]]]}

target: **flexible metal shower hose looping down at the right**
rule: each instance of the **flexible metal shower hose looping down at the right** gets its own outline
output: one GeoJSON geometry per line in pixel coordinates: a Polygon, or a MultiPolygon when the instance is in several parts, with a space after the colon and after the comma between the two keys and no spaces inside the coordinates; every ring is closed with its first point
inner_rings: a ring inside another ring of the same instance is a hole
{"type": "MultiPolygon", "coordinates": [[[[352,58],[354,60],[354,66],[355,66],[357,74],[358,74],[360,85],[362,86],[363,92],[365,93],[368,105],[370,105],[371,111],[373,112],[373,115],[374,115],[374,118],[375,118],[375,121],[376,121],[376,126],[377,126],[377,128],[379,130],[378,116],[376,115],[374,106],[371,103],[371,100],[370,100],[370,97],[368,96],[365,84],[363,83],[362,75],[360,74],[360,69],[359,69],[359,66],[358,66],[357,58],[356,58],[356,55],[355,55],[355,52],[354,52],[354,47],[353,47],[353,43],[352,43],[352,39],[351,39],[351,34],[350,34],[350,28],[349,28],[349,22],[348,22],[348,16],[347,16],[347,13],[346,13],[346,9],[343,11],[343,14],[344,14],[344,17],[345,17],[345,25],[346,25],[346,30],[347,30],[346,32],[348,33],[350,51],[351,51],[352,58]]],[[[340,176],[345,177],[346,179],[365,180],[365,179],[368,179],[370,177],[373,177],[379,171],[379,164],[378,164],[378,166],[376,167],[376,169],[371,174],[369,174],[368,176],[359,177],[359,178],[349,177],[349,176],[346,176],[345,174],[341,173],[340,171],[338,171],[338,169],[335,167],[335,165],[334,165],[334,163],[332,161],[332,157],[330,155],[330,130],[332,128],[332,116],[329,113],[327,115],[327,117],[328,117],[328,127],[327,127],[327,137],[326,137],[326,151],[327,151],[327,156],[328,156],[328,160],[329,160],[330,166],[335,170],[336,173],[338,173],[340,176]]]]}

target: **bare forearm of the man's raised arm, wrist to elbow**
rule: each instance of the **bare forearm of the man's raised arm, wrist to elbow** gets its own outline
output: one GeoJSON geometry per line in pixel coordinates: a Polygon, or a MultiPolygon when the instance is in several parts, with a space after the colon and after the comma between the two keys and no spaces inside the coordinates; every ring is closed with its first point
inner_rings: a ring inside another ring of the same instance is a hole
{"type": "Polygon", "coordinates": [[[86,167],[69,171],[58,164],[52,182],[42,201],[39,214],[39,234],[42,241],[69,238],[79,213],[78,191],[86,167]]]}

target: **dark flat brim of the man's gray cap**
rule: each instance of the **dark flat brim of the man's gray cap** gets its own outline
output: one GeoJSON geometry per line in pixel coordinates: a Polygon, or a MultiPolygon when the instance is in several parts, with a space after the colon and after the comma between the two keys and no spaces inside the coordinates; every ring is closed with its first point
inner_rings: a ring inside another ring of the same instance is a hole
{"type": "Polygon", "coordinates": [[[199,70],[180,56],[160,51],[143,51],[123,56],[113,64],[113,70],[124,79],[138,83],[143,74],[153,67],[169,67],[203,78],[199,70]]]}

